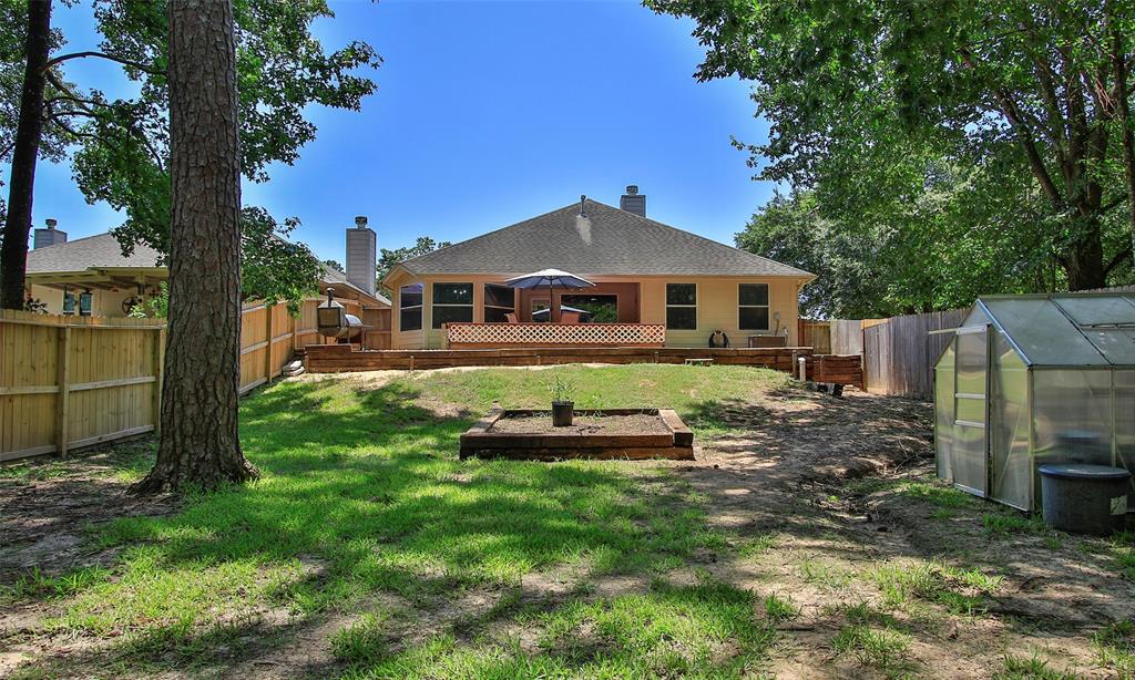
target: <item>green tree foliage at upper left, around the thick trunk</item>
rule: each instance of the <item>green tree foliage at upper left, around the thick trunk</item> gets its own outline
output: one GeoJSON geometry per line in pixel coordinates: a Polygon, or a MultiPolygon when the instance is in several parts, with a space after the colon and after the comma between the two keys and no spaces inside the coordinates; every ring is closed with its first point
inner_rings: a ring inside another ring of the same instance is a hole
{"type": "MultiPolygon", "coordinates": [[[[23,31],[18,8],[0,10],[0,151],[14,134],[19,102],[23,31]],[[12,15],[9,17],[8,15],[12,15]],[[8,20],[12,19],[12,20],[8,20]],[[12,59],[7,57],[11,54],[12,59]]],[[[163,0],[93,0],[101,42],[96,51],[52,50],[48,71],[47,126],[41,158],[69,154],[75,181],[90,202],[125,211],[114,230],[129,253],[143,243],[169,252],[170,180],[168,126],[168,19],[163,0]],[[133,97],[111,97],[96,86],[66,82],[60,66],[72,59],[109,59],[137,84],[133,97]]],[[[26,12],[26,10],[24,10],[26,12]]],[[[359,110],[375,83],[359,71],[380,58],[365,42],[327,50],[312,24],[334,17],[325,0],[235,0],[241,168],[267,181],[274,162],[291,164],[316,137],[305,116],[311,104],[359,110]]],[[[58,34],[58,44],[66,36],[58,34]]],[[[7,153],[7,152],[6,152],[7,153]]],[[[242,286],[246,297],[299,300],[314,289],[319,261],[302,245],[281,240],[296,226],[281,224],[259,207],[242,214],[245,231],[242,286]]]]}

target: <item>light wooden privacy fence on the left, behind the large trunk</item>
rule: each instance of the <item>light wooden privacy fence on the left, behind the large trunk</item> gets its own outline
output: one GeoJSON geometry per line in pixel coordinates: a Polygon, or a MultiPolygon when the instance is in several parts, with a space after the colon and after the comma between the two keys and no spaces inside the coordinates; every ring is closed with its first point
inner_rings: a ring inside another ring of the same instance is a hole
{"type": "MultiPolygon", "coordinates": [[[[283,304],[244,309],[242,393],[319,341],[317,305],[305,301],[300,318],[283,304]]],[[[166,324],[149,318],[0,311],[0,460],[154,432],[165,338],[166,324]]]]}

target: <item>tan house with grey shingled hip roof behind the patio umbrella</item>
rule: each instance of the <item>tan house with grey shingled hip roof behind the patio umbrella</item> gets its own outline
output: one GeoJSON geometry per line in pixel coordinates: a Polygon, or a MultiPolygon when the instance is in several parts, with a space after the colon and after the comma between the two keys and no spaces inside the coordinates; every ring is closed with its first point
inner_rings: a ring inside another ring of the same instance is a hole
{"type": "Polygon", "coordinates": [[[552,303],[594,321],[665,324],[671,347],[705,347],[715,330],[735,347],[749,335],[796,345],[800,288],[814,274],[647,219],[628,187],[620,209],[591,199],[407,260],[394,291],[392,347],[446,347],[446,323],[546,318],[552,303]],[[514,290],[512,277],[560,269],[596,283],[579,290],[514,290]]]}

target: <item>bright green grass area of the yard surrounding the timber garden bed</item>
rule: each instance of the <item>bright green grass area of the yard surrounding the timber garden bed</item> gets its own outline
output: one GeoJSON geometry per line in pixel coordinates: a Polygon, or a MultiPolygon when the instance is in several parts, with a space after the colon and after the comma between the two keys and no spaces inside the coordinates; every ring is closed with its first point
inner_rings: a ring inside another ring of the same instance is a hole
{"type": "MultiPolygon", "coordinates": [[[[94,546],[116,551],[109,568],[25,581],[7,604],[54,598],[47,631],[99,641],[58,663],[94,674],[222,669],[337,618],[327,645],[352,677],[759,665],[773,636],[763,603],[708,577],[671,578],[725,541],[682,482],[649,465],[457,460],[480,414],[544,407],[555,375],[574,383],[577,407],[673,407],[698,436],[728,432],[723,409],[788,384],[747,367],[661,365],[419,374],[378,389],[279,383],[242,405],[260,481],[191,498],[170,517],[96,527],[94,546]],[[585,579],[555,597],[522,587],[526,575],[565,569],[648,585],[602,596],[585,579]],[[455,604],[478,593],[491,606],[455,604]]],[[[119,474],[142,469],[128,461],[119,474]]],[[[52,663],[23,673],[51,675],[52,663]]]]}

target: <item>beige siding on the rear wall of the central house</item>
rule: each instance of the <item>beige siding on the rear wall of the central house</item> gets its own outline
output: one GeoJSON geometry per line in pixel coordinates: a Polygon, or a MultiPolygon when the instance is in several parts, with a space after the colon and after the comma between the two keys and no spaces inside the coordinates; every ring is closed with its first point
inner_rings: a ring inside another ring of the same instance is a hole
{"type": "MultiPolygon", "coordinates": [[[[397,349],[442,349],[445,347],[445,333],[430,328],[432,318],[432,284],[435,282],[473,283],[473,321],[485,318],[485,283],[499,283],[516,275],[515,273],[486,274],[447,274],[444,277],[402,278],[390,281],[395,287],[393,311],[393,347],[397,349]],[[400,290],[398,286],[420,282],[422,291],[422,331],[402,332],[400,328],[400,290]]],[[[737,347],[748,345],[748,337],[756,334],[783,333],[789,330],[789,345],[796,345],[797,318],[799,309],[799,291],[802,279],[788,278],[741,278],[741,277],[605,277],[602,274],[580,274],[595,283],[638,283],[640,287],[640,323],[666,323],[666,283],[696,283],[698,287],[698,328],[693,331],[667,331],[666,345],[671,347],[704,347],[714,330],[724,331],[737,347]],[[768,284],[768,323],[770,329],[740,330],[738,290],[741,283],[768,284]],[[780,322],[775,318],[780,314],[780,322]]]]}

